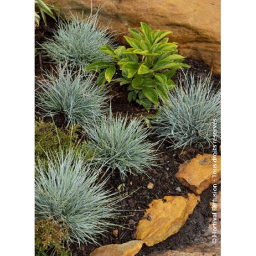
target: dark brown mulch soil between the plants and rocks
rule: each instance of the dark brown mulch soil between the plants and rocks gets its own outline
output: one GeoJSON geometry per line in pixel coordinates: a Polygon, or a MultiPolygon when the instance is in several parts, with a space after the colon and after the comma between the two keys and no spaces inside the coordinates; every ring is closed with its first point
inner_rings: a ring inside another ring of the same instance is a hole
{"type": "MultiPolygon", "coordinates": [[[[35,47],[38,48],[39,44],[41,44],[46,37],[51,37],[54,29],[54,23],[50,23],[48,28],[44,25],[36,28],[35,47]]],[[[189,72],[194,73],[196,77],[205,77],[210,72],[208,65],[203,62],[196,62],[195,60],[189,59],[185,62],[190,64],[191,68],[189,72]]],[[[43,70],[51,70],[52,68],[53,65],[44,54],[40,53],[40,55],[35,57],[36,80],[42,77],[42,74],[44,73],[43,70]]],[[[178,77],[179,72],[176,73],[173,80],[177,82],[178,77]]],[[[212,74],[212,81],[214,82],[214,88],[216,89],[219,89],[220,87],[220,78],[220,75],[212,74]]],[[[112,84],[109,86],[109,95],[111,96],[111,108],[113,113],[122,113],[122,115],[128,113],[131,116],[146,116],[148,113],[145,109],[135,102],[128,102],[127,94],[128,91],[126,86],[120,86],[119,84],[112,84]]],[[[150,112],[150,114],[152,113],[154,113],[154,111],[150,112]]],[[[64,125],[62,117],[57,118],[55,121],[57,122],[57,126],[64,125]]],[[[152,143],[156,143],[158,138],[150,136],[149,140],[152,141],[152,143]]],[[[127,196],[127,198],[120,202],[120,214],[122,217],[114,220],[114,223],[117,225],[116,228],[109,230],[109,232],[105,234],[105,237],[99,237],[98,241],[101,245],[122,244],[136,239],[135,231],[138,221],[143,218],[144,211],[152,200],[161,199],[167,195],[183,195],[192,192],[188,188],[183,187],[174,175],[178,171],[181,163],[189,161],[194,158],[196,154],[211,154],[211,149],[205,149],[205,152],[202,152],[201,149],[192,148],[185,149],[181,152],[181,150],[171,151],[168,149],[169,146],[170,144],[163,140],[156,145],[159,159],[157,161],[157,167],[152,170],[147,170],[147,174],[150,178],[145,175],[130,175],[125,182],[122,182],[118,172],[113,172],[106,187],[118,191],[118,186],[124,183],[125,186],[122,187],[124,188],[124,191],[121,193],[127,196]],[[149,182],[154,184],[152,190],[147,188],[149,182]],[[118,237],[113,235],[113,230],[115,229],[118,230],[118,237]]],[[[190,215],[188,221],[186,221],[185,225],[178,233],[153,247],[144,245],[138,255],[149,255],[150,253],[159,253],[165,250],[177,250],[186,246],[192,246],[195,243],[195,239],[203,235],[204,230],[209,226],[209,218],[211,216],[209,202],[212,199],[211,196],[211,188],[205,190],[203,194],[201,194],[201,201],[196,205],[193,214],[190,215]]],[[[72,245],[71,251],[73,255],[89,255],[95,248],[95,246],[81,246],[81,248],[79,248],[77,245],[72,245]]]]}

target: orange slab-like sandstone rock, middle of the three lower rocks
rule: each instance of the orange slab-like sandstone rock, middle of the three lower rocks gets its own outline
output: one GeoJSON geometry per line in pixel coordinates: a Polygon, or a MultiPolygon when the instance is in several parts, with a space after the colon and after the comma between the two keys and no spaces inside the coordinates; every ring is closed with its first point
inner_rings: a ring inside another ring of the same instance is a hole
{"type": "Polygon", "coordinates": [[[154,246],[178,232],[192,214],[199,196],[165,196],[149,203],[144,217],[136,228],[136,239],[143,240],[147,246],[154,246]]]}

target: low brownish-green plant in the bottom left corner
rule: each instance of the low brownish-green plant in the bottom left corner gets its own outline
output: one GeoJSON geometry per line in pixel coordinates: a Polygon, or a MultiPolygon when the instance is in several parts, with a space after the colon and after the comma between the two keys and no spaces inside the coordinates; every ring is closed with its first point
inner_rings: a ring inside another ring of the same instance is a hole
{"type": "Polygon", "coordinates": [[[53,219],[35,221],[35,255],[46,256],[50,251],[51,255],[71,255],[64,246],[68,230],[58,222],[53,219]]]}

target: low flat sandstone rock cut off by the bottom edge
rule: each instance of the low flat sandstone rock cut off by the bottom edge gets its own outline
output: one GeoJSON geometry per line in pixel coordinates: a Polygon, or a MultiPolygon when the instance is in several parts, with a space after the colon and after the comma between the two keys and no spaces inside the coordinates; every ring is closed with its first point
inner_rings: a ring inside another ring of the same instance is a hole
{"type": "Polygon", "coordinates": [[[93,250],[90,256],[134,256],[142,246],[143,241],[135,240],[125,244],[109,244],[93,250]]]}

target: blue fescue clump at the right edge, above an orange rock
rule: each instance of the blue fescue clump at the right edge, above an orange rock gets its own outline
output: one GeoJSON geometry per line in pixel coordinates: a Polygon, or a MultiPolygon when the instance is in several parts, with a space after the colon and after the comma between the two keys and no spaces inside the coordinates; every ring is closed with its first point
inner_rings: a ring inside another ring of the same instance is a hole
{"type": "Polygon", "coordinates": [[[217,119],[217,140],[220,140],[221,91],[212,88],[211,77],[195,80],[185,74],[184,82],[169,93],[169,103],[160,108],[153,122],[158,137],[171,141],[172,149],[212,145],[213,125],[217,119]]]}

